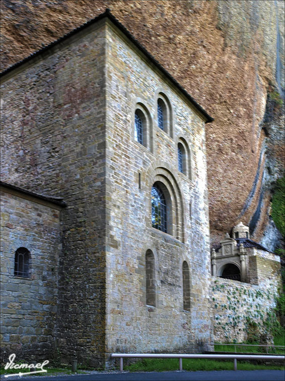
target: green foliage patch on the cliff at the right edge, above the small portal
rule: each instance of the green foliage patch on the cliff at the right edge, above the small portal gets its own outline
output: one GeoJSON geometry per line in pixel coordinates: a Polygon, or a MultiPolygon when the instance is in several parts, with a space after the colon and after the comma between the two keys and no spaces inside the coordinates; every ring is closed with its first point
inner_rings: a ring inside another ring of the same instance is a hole
{"type": "Polygon", "coordinates": [[[285,236],[285,178],[276,181],[272,197],[272,219],[282,234],[285,236]]]}

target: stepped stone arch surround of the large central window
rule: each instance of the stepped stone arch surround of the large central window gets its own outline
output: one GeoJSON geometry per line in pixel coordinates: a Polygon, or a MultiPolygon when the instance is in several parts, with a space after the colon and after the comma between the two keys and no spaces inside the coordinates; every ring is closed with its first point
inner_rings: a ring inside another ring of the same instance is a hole
{"type": "Polygon", "coordinates": [[[178,181],[170,170],[168,164],[157,161],[150,166],[144,176],[145,191],[149,199],[149,226],[151,227],[151,191],[156,182],[164,184],[171,200],[171,232],[177,240],[185,242],[184,233],[184,200],[181,192],[180,181],[178,181]]]}

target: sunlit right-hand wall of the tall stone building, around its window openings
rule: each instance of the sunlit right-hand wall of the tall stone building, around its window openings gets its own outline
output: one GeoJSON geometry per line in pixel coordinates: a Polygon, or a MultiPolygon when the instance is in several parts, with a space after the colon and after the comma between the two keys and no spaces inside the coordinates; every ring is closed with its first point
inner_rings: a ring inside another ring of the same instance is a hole
{"type": "Polygon", "coordinates": [[[107,352],[201,350],[211,326],[204,122],[111,27],[107,40],[107,352]],[[173,109],[173,138],[157,125],[159,92],[173,109]],[[153,152],[134,140],[137,102],[149,112],[153,152]],[[180,136],[191,149],[192,181],[178,171],[180,136]],[[183,239],[152,228],[151,189],[157,179],[172,183],[174,197],[182,200],[183,239]],[[149,249],[155,257],[155,307],[146,305],[149,249]],[[183,260],[190,267],[190,311],[183,310],[183,260]]]}

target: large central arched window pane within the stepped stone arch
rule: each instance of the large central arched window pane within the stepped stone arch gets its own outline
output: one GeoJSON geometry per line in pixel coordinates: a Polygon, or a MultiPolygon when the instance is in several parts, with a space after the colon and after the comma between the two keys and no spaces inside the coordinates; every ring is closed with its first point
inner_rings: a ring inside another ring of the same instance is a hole
{"type": "Polygon", "coordinates": [[[162,232],[167,232],[166,200],[157,183],[152,188],[152,226],[162,232]]]}

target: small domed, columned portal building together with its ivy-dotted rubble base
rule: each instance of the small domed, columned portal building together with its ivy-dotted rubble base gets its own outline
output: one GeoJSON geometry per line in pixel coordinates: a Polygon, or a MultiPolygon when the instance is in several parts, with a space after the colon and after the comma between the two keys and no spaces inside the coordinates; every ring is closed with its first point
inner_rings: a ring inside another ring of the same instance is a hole
{"type": "MultiPolygon", "coordinates": [[[[281,287],[280,257],[249,238],[239,223],[221,246],[211,250],[213,332],[216,342],[244,342],[255,337],[272,343],[281,287]]],[[[258,340],[258,339],[256,339],[258,340]]]]}

